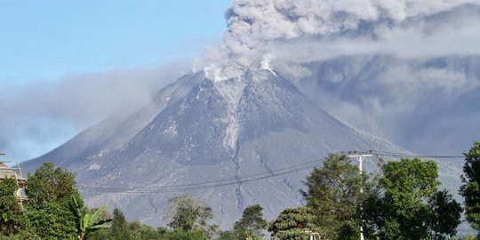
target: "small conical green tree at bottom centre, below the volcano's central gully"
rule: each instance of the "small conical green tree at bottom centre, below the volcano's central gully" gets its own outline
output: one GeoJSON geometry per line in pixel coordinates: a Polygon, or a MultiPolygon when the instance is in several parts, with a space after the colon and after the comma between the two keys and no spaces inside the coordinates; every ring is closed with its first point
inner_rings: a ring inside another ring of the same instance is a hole
{"type": "Polygon", "coordinates": [[[233,230],[239,239],[246,239],[248,236],[260,238],[262,230],[267,228],[267,220],[263,219],[262,207],[260,204],[247,206],[244,209],[242,218],[234,223],[233,230]]]}

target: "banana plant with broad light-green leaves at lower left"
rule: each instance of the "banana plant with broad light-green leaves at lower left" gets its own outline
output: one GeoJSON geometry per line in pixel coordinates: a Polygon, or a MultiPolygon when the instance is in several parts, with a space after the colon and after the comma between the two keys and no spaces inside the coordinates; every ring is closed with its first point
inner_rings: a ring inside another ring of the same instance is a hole
{"type": "Polygon", "coordinates": [[[87,234],[90,234],[98,229],[111,228],[112,219],[99,220],[100,214],[105,212],[108,205],[103,205],[97,211],[90,213],[84,211],[84,208],[77,204],[76,198],[72,197],[72,209],[76,216],[76,230],[78,240],[84,240],[87,234]]]}

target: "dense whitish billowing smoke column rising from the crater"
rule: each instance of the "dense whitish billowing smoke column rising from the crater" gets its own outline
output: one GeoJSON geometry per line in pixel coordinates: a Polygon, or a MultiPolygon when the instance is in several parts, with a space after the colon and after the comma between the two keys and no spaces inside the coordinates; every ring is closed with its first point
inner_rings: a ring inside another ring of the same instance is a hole
{"type": "MultiPolygon", "coordinates": [[[[206,51],[206,70],[215,78],[259,66],[268,46],[299,39],[382,39],[392,29],[478,0],[234,0],[220,48],[206,51]],[[228,61],[226,61],[228,60],[228,61]]],[[[202,63],[200,63],[202,65],[202,63]]],[[[202,67],[202,66],[198,66],[202,67]]]]}

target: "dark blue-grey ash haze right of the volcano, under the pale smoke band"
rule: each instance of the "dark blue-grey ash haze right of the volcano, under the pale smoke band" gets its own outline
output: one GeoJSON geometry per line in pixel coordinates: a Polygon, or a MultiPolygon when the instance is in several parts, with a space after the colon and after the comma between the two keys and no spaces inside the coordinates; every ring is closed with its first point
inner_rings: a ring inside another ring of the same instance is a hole
{"type": "Polygon", "coordinates": [[[312,74],[297,85],[320,108],[402,148],[459,156],[480,137],[480,55],[349,55],[305,66],[312,74]]]}

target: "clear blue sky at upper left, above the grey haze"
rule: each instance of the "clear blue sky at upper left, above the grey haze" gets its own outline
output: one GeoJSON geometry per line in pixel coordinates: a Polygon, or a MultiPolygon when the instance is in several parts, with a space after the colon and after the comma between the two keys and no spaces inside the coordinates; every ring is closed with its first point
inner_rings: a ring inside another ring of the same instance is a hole
{"type": "Polygon", "coordinates": [[[19,84],[194,56],[230,1],[0,1],[0,81],[19,84]]]}

